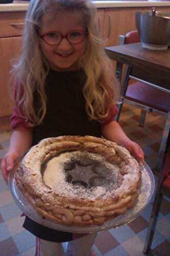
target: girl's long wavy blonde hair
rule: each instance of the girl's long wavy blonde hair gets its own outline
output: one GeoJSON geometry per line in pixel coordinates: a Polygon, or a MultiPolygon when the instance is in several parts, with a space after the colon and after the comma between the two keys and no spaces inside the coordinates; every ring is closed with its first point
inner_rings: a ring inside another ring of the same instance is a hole
{"type": "Polygon", "coordinates": [[[37,30],[46,12],[76,11],[81,13],[88,30],[86,49],[79,65],[87,76],[83,94],[86,99],[86,112],[89,119],[102,121],[114,101],[113,67],[107,57],[98,26],[94,22],[96,9],[89,0],[32,0],[26,15],[23,31],[22,54],[13,67],[17,83],[15,100],[20,114],[30,126],[42,122],[46,113],[44,91],[46,76],[50,70],[39,43],[37,30]],[[40,105],[34,109],[34,93],[38,93],[40,105]]]}

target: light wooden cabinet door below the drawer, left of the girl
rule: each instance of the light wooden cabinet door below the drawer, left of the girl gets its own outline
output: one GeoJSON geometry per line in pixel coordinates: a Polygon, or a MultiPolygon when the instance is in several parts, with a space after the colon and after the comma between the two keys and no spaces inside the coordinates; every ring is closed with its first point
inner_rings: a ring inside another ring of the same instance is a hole
{"type": "Polygon", "coordinates": [[[0,117],[9,116],[13,110],[10,88],[13,86],[10,70],[13,59],[19,55],[21,36],[0,38],[0,117]]]}

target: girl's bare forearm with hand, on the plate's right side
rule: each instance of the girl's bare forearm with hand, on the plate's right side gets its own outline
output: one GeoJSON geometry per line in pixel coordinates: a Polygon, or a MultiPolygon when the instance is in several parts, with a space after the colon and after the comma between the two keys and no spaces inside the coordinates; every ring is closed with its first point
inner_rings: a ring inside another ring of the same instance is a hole
{"type": "Polygon", "coordinates": [[[141,147],[130,140],[116,121],[102,125],[102,135],[105,139],[116,142],[127,148],[127,150],[137,159],[144,160],[144,153],[141,147]]]}

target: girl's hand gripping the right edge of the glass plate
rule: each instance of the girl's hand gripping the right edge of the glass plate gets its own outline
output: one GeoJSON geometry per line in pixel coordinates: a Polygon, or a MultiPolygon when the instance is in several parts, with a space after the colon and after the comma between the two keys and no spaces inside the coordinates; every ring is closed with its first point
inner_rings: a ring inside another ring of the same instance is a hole
{"type": "Polygon", "coordinates": [[[136,142],[129,140],[125,146],[127,150],[134,156],[134,158],[136,158],[136,160],[138,161],[144,160],[144,153],[141,147],[136,142]]]}

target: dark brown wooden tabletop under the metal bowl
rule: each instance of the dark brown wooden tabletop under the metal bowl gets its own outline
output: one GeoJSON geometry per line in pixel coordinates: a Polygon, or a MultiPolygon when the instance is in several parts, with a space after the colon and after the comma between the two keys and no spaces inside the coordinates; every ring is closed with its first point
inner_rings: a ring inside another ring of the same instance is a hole
{"type": "Polygon", "coordinates": [[[139,42],[107,47],[106,53],[113,60],[133,66],[135,76],[170,90],[170,49],[149,50],[139,42]]]}

